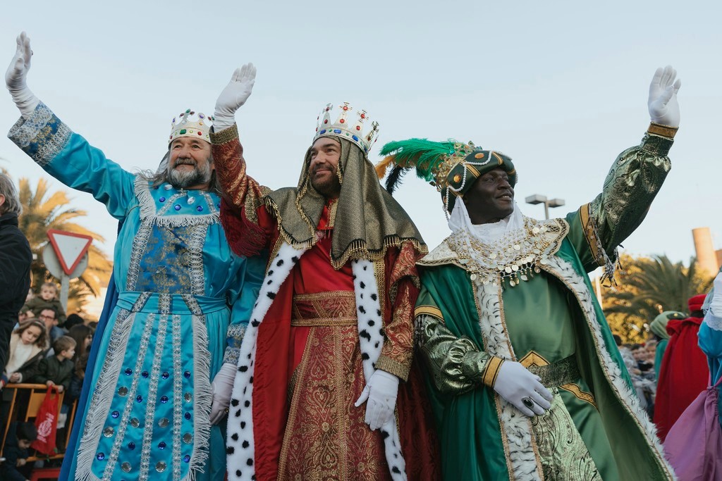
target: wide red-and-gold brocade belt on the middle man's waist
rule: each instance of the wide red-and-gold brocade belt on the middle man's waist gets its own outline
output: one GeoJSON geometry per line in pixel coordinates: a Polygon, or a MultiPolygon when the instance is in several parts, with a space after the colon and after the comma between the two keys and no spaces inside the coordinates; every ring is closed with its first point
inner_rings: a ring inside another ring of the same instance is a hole
{"type": "Polygon", "coordinates": [[[354,291],[327,291],[293,296],[292,326],[355,326],[354,291]]]}

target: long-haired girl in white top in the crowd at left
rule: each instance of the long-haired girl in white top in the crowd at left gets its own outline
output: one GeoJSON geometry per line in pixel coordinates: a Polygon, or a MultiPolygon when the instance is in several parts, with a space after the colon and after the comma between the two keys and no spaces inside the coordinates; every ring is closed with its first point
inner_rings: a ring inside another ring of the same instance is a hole
{"type": "Polygon", "coordinates": [[[0,377],[0,389],[8,382],[22,382],[35,376],[40,361],[45,357],[47,338],[45,324],[38,319],[30,319],[13,331],[9,356],[0,377]]]}

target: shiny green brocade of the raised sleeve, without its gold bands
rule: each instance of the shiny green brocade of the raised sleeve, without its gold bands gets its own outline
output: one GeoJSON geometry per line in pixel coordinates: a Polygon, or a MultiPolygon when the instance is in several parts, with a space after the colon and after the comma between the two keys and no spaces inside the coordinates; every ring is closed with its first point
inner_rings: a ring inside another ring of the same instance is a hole
{"type": "Polygon", "coordinates": [[[604,252],[611,253],[642,223],[671,162],[671,138],[645,134],[639,146],[619,154],[591,203],[591,220],[604,252]]]}

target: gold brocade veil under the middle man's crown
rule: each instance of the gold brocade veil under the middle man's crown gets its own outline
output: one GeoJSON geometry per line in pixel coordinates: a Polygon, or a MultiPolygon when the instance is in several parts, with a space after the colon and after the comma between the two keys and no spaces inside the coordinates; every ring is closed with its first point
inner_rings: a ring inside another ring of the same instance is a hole
{"type": "MultiPolygon", "coordinates": [[[[343,182],[339,195],[331,265],[339,269],[349,259],[375,260],[388,247],[411,242],[417,252],[428,248],[409,215],[383,190],[373,164],[361,150],[342,138],[341,169],[343,182]]],[[[310,247],[316,242],[316,226],[326,198],[310,185],[306,151],[297,187],[274,190],[266,196],[266,208],[276,217],[282,237],[292,245],[310,247]]]]}

